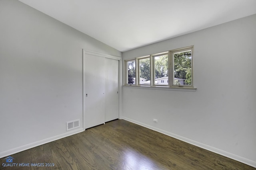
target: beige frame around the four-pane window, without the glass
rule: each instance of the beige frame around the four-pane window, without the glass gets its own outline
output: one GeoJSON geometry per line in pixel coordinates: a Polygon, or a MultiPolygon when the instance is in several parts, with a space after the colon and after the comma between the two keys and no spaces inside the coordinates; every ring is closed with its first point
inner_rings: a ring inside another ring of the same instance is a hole
{"type": "Polygon", "coordinates": [[[160,88],[187,88],[196,89],[194,87],[194,45],[170,51],[164,51],[152,55],[146,55],[143,57],[136,57],[133,59],[124,60],[125,64],[125,84],[124,86],[142,86],[142,87],[160,87],[160,88]],[[191,85],[174,85],[174,53],[182,53],[185,51],[191,51],[191,85]],[[154,57],[168,55],[168,84],[155,84],[155,59],[154,57]],[[140,60],[150,59],[150,84],[140,84],[140,60]],[[135,61],[135,84],[128,84],[128,62],[135,61]]]}

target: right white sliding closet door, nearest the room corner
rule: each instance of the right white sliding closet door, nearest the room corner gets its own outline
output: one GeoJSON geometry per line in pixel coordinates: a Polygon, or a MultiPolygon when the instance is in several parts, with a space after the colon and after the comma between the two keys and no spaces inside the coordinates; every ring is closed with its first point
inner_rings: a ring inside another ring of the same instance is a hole
{"type": "Polygon", "coordinates": [[[105,59],[105,122],[118,119],[119,61],[105,59]]]}

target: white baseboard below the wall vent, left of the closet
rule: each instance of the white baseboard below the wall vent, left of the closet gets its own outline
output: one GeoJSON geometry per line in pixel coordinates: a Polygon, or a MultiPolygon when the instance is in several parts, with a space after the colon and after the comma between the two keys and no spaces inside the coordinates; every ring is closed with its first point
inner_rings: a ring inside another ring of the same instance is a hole
{"type": "Polygon", "coordinates": [[[4,158],[6,156],[9,156],[9,155],[12,155],[12,154],[16,154],[18,152],[22,152],[24,150],[31,149],[31,148],[34,148],[34,147],[37,147],[37,146],[40,146],[40,145],[43,145],[43,144],[46,144],[46,143],[49,143],[49,142],[52,142],[52,141],[56,141],[58,139],[62,139],[64,137],[68,137],[68,136],[74,135],[76,133],[80,133],[82,131],[84,131],[84,129],[83,128],[79,128],[79,129],[76,129],[76,130],[73,130],[73,131],[70,131],[70,132],[66,132],[66,133],[61,134],[61,135],[57,135],[57,136],[54,136],[54,137],[43,139],[41,141],[30,143],[28,145],[24,145],[24,146],[17,147],[17,148],[14,148],[14,149],[6,150],[4,152],[0,152],[0,158],[4,158]]]}

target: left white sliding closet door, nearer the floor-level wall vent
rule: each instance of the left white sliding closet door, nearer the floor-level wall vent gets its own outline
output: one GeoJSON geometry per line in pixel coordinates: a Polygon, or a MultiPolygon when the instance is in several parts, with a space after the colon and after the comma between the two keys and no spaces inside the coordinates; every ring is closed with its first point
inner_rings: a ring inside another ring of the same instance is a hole
{"type": "Polygon", "coordinates": [[[85,55],[85,128],[105,122],[105,58],[85,55]]]}

